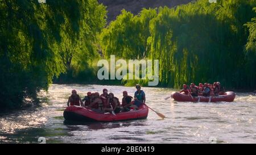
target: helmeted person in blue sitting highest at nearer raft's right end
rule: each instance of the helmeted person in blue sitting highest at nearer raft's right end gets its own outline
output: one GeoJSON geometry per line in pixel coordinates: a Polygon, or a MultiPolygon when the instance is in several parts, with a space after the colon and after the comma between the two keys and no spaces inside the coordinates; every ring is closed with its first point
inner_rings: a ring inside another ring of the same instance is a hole
{"type": "Polygon", "coordinates": [[[138,109],[142,104],[146,102],[146,94],[143,90],[141,90],[141,85],[137,84],[136,86],[137,91],[134,93],[134,107],[138,109]]]}

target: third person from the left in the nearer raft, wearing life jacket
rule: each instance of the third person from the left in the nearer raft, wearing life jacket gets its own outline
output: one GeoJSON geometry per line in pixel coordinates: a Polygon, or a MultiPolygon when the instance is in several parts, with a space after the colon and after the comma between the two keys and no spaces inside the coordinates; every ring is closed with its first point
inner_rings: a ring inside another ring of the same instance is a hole
{"type": "Polygon", "coordinates": [[[101,100],[100,94],[99,93],[93,93],[92,94],[92,103],[90,103],[86,108],[90,108],[91,110],[99,113],[104,113],[104,107],[103,107],[103,102],[101,100]]]}

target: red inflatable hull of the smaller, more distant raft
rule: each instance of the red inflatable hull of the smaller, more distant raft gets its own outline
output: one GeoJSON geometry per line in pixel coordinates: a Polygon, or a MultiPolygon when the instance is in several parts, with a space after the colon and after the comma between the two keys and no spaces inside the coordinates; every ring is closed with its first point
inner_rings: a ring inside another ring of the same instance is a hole
{"type": "Polygon", "coordinates": [[[192,97],[191,95],[185,95],[181,94],[179,92],[175,92],[171,94],[171,97],[174,98],[177,101],[181,102],[233,102],[234,98],[236,97],[236,94],[233,91],[228,91],[224,93],[223,95],[218,96],[210,96],[210,97],[192,97]]]}

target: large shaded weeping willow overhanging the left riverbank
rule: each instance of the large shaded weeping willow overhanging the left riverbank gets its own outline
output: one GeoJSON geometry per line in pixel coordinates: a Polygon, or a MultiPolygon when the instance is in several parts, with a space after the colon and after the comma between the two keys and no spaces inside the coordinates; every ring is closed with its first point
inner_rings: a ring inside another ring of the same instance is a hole
{"type": "Polygon", "coordinates": [[[69,66],[86,67],[105,16],[96,0],[0,0],[0,110],[36,100],[69,66]]]}

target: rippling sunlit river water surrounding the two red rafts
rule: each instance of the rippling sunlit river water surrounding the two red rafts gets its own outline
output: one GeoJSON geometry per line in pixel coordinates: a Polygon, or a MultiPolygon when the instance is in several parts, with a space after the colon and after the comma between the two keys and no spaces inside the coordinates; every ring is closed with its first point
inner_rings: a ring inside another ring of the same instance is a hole
{"type": "Polygon", "coordinates": [[[134,87],[51,85],[40,92],[42,106],[0,115],[0,143],[256,143],[256,97],[236,93],[232,103],[192,103],[164,100],[172,89],[143,87],[146,103],[166,115],[150,111],[144,120],[111,123],[64,122],[63,110],[72,89],[83,97],[103,88],[119,99],[122,91],[133,96],[134,87]]]}

